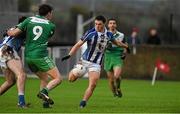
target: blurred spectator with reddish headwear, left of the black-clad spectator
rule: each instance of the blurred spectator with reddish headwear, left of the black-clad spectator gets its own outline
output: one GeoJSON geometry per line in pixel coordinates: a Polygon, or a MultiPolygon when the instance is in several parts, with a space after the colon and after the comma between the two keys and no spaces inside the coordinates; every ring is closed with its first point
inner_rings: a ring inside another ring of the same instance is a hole
{"type": "Polygon", "coordinates": [[[133,28],[132,29],[132,33],[131,33],[131,36],[128,38],[128,44],[130,45],[137,45],[137,44],[140,44],[140,40],[139,40],[139,37],[138,37],[138,28],[133,28]]]}

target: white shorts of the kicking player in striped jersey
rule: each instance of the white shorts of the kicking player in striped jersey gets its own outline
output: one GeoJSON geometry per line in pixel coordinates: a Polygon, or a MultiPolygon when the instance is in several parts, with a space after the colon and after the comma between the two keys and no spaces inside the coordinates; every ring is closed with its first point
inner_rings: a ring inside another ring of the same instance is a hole
{"type": "Polygon", "coordinates": [[[81,59],[81,61],[82,61],[82,65],[86,67],[88,72],[92,72],[92,71],[99,73],[101,72],[101,66],[99,64],[92,63],[83,59],[81,59]]]}

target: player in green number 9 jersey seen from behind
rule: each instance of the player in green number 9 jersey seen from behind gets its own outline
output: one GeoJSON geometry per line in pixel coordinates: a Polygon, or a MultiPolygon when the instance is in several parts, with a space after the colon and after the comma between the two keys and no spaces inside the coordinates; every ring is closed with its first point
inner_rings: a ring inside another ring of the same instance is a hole
{"type": "Polygon", "coordinates": [[[44,107],[54,104],[54,101],[48,96],[48,92],[62,81],[55,63],[48,57],[47,50],[48,39],[55,30],[55,25],[50,21],[52,10],[49,5],[40,5],[39,15],[27,18],[16,29],[8,31],[10,36],[17,36],[23,31],[26,32],[25,61],[41,80],[41,90],[37,96],[43,99],[44,107]],[[48,76],[52,78],[49,82],[48,76]]]}

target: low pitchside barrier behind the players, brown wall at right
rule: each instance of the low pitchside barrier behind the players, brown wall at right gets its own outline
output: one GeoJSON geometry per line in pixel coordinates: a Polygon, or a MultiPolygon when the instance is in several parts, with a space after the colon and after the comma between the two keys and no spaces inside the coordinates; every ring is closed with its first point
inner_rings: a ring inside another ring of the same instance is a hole
{"type": "MultiPolygon", "coordinates": [[[[49,47],[49,55],[54,60],[61,74],[66,78],[68,72],[73,68],[80,58],[80,53],[71,57],[69,60],[61,62],[61,58],[69,53],[71,46],[55,46],[49,47]]],[[[128,54],[123,65],[123,78],[133,79],[152,79],[156,61],[158,59],[167,63],[170,67],[169,73],[158,71],[157,79],[163,80],[180,80],[180,46],[154,46],[154,45],[140,45],[137,46],[137,53],[128,54]]],[[[21,56],[23,58],[22,48],[21,56]]],[[[25,70],[28,74],[32,72],[24,64],[25,70]]],[[[29,75],[32,76],[32,75],[29,75]]],[[[106,73],[102,68],[101,77],[106,78],[106,73]]]]}

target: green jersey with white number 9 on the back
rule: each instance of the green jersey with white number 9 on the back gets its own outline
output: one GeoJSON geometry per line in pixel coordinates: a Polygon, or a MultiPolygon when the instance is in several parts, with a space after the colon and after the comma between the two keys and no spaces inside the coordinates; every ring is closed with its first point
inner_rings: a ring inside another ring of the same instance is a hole
{"type": "Polygon", "coordinates": [[[18,25],[26,31],[25,57],[42,58],[48,56],[48,39],[54,34],[55,25],[43,16],[27,18],[18,25]]]}

